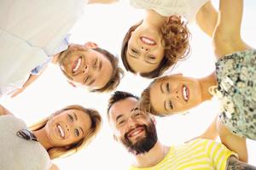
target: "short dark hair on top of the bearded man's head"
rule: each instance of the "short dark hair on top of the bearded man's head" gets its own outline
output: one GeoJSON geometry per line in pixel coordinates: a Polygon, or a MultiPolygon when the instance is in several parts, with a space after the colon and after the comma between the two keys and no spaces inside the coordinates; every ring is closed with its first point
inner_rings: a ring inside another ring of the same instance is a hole
{"type": "Polygon", "coordinates": [[[134,99],[139,99],[136,95],[133,95],[131,93],[128,92],[123,92],[123,91],[115,91],[110,99],[108,99],[108,115],[109,115],[109,110],[112,107],[113,104],[115,104],[116,102],[126,99],[126,98],[134,98],[134,99]]]}

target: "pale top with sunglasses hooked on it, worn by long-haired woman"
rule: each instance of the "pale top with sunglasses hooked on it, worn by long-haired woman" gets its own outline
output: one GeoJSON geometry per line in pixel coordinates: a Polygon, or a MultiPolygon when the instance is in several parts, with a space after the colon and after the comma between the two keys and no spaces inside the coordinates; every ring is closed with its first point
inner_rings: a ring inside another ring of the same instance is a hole
{"type": "Polygon", "coordinates": [[[16,135],[24,128],[26,124],[15,116],[0,116],[0,169],[49,170],[51,161],[44,147],[16,135]]]}

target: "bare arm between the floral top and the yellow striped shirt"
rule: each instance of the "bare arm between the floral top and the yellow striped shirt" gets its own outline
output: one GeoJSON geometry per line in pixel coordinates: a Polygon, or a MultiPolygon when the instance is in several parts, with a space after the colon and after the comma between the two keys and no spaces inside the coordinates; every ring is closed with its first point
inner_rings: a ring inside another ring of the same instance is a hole
{"type": "Polygon", "coordinates": [[[235,151],[239,160],[248,161],[247,143],[245,138],[241,138],[224,126],[224,124],[218,119],[217,129],[221,142],[230,150],[235,151]]]}

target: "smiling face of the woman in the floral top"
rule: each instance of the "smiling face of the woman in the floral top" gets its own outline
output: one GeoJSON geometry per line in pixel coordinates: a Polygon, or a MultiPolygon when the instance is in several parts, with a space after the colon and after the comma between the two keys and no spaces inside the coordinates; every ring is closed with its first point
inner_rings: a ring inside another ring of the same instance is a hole
{"type": "Polygon", "coordinates": [[[149,93],[150,104],[160,115],[187,111],[202,101],[198,80],[181,74],[154,82],[149,93]]]}

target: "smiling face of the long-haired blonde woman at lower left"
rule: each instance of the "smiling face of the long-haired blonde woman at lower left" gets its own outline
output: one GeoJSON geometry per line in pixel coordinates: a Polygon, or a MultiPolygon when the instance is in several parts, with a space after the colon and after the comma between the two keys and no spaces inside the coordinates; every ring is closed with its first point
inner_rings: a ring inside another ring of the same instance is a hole
{"type": "Polygon", "coordinates": [[[50,118],[45,125],[45,131],[53,146],[66,146],[84,139],[90,125],[88,114],[72,109],[50,118]]]}

